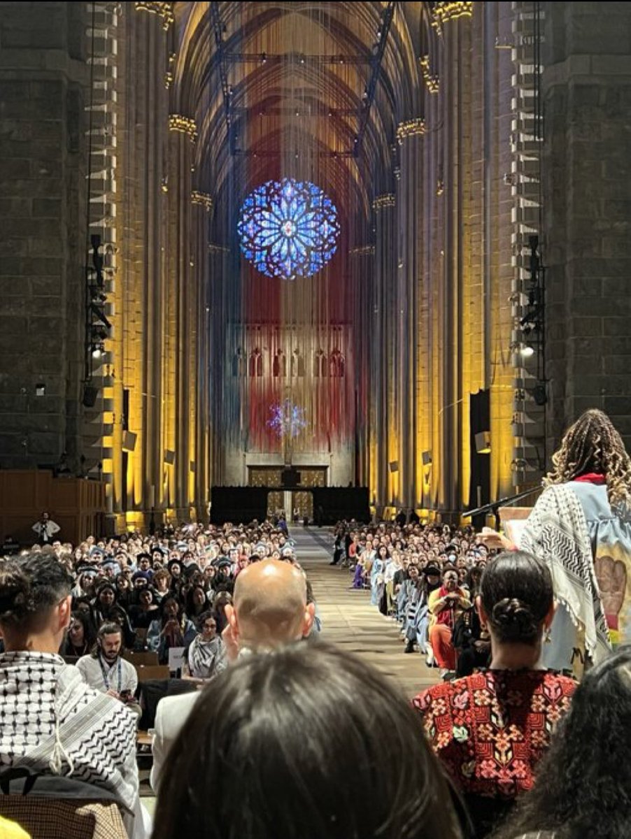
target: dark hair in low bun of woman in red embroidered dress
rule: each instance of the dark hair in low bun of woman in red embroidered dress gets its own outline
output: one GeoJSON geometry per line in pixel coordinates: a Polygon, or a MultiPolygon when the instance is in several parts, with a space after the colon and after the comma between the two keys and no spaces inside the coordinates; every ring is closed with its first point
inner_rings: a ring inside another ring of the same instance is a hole
{"type": "Polygon", "coordinates": [[[523,550],[491,560],[480,581],[482,606],[498,641],[535,644],[552,607],[552,577],[544,562],[523,550]]]}

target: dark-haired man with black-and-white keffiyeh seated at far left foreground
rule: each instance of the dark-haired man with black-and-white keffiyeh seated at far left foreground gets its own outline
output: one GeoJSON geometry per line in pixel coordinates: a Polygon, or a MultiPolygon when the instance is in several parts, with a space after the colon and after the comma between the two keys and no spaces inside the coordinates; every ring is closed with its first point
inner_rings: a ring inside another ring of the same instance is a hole
{"type": "MultiPolygon", "coordinates": [[[[136,721],[57,654],[72,577],[43,550],[0,564],[0,763],[74,777],[138,803],[136,721]]],[[[95,797],[98,797],[95,791],[95,797]]]]}

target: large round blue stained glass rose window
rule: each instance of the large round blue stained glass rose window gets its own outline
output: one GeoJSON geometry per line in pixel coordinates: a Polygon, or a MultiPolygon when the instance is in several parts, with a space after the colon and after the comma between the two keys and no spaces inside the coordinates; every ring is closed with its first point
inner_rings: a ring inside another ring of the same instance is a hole
{"type": "Polygon", "coordinates": [[[243,255],[261,274],[315,274],[336,252],[336,207],[308,180],[268,180],[243,201],[237,231],[243,255]]]}

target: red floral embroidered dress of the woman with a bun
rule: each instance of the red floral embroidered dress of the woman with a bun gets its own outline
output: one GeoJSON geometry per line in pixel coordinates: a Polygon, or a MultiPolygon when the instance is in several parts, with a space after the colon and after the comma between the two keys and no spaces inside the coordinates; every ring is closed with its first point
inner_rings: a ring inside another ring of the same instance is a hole
{"type": "Polygon", "coordinates": [[[573,679],[549,670],[487,670],[435,685],[413,704],[463,792],[514,798],[532,787],[575,689],[573,679]]]}

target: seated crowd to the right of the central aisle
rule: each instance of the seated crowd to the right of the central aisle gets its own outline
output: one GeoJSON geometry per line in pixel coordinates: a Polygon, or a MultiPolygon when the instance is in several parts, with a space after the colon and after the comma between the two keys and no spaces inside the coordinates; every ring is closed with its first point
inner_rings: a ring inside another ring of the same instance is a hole
{"type": "Polygon", "coordinates": [[[352,588],[400,624],[404,652],[420,652],[441,676],[468,675],[488,661],[490,642],[474,602],[488,548],[472,527],[400,522],[337,525],[332,565],[352,588]]]}

